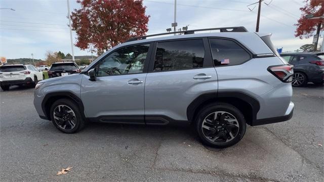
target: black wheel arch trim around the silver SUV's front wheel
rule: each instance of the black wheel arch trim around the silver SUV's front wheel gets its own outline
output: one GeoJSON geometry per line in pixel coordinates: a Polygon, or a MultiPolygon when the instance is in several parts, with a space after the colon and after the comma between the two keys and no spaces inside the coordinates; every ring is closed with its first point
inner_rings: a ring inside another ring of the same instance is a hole
{"type": "Polygon", "coordinates": [[[62,96],[62,97],[67,97],[71,100],[73,100],[77,106],[79,107],[80,111],[81,111],[81,115],[86,118],[85,116],[85,107],[83,105],[83,102],[82,100],[76,96],[75,94],[73,94],[72,92],[68,92],[68,91],[62,91],[62,92],[52,92],[52,93],[48,93],[45,95],[43,101],[42,101],[42,110],[43,110],[43,113],[45,114],[44,117],[42,117],[42,119],[47,119],[47,120],[51,120],[51,117],[48,116],[48,112],[47,112],[47,109],[50,110],[50,108],[47,108],[46,107],[46,103],[47,101],[49,101],[50,98],[53,98],[53,97],[59,97],[59,96],[62,96]]]}

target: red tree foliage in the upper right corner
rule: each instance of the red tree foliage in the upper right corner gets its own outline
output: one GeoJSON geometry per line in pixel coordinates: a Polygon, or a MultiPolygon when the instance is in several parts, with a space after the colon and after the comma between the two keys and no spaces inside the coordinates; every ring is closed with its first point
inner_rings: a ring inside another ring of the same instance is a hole
{"type": "Polygon", "coordinates": [[[295,24],[297,29],[295,31],[295,37],[300,39],[310,38],[317,27],[318,31],[324,29],[324,26],[320,28],[322,19],[307,19],[306,15],[314,14],[314,17],[319,17],[324,14],[324,1],[323,0],[305,0],[305,6],[300,8],[302,15],[298,20],[298,23],[295,24]]]}

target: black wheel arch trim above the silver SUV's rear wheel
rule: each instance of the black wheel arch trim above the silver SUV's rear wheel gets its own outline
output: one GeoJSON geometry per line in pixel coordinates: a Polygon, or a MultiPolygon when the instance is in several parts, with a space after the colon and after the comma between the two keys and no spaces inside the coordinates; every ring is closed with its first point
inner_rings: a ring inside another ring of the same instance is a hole
{"type": "Polygon", "coordinates": [[[192,122],[194,120],[195,111],[199,105],[201,105],[204,102],[211,100],[211,99],[219,99],[219,98],[226,98],[226,97],[240,99],[240,100],[247,102],[249,105],[251,105],[251,107],[252,107],[252,121],[251,121],[250,125],[253,126],[254,122],[257,120],[257,113],[260,110],[260,103],[253,96],[250,96],[246,93],[238,92],[238,91],[212,92],[212,93],[205,93],[205,94],[199,95],[187,107],[188,121],[192,122]]]}

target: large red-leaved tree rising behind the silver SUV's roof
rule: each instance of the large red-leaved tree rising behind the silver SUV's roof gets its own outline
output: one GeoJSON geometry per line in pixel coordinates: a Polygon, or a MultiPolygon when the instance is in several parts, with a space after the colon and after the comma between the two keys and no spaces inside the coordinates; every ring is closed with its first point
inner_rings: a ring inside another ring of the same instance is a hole
{"type": "Polygon", "coordinates": [[[131,37],[145,35],[149,16],[143,0],[77,0],[82,7],[71,15],[76,47],[93,45],[98,54],[131,37]]]}

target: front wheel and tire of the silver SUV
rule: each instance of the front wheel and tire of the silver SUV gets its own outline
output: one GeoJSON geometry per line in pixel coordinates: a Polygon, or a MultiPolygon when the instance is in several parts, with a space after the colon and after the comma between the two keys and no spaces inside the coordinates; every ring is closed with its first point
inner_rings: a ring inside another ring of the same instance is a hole
{"type": "Polygon", "coordinates": [[[85,119],[79,107],[69,99],[55,101],[51,106],[50,115],[54,126],[63,133],[75,133],[85,126],[85,119]]]}

